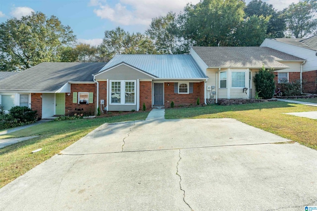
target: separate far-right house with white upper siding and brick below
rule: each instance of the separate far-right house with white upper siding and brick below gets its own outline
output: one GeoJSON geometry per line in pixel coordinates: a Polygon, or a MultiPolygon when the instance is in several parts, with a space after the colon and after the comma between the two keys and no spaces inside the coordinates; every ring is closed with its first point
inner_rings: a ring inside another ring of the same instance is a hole
{"type": "Polygon", "coordinates": [[[281,80],[293,82],[303,81],[304,93],[317,93],[317,36],[304,38],[275,38],[265,39],[261,46],[270,47],[304,59],[300,67],[276,71],[276,85],[281,80]]]}

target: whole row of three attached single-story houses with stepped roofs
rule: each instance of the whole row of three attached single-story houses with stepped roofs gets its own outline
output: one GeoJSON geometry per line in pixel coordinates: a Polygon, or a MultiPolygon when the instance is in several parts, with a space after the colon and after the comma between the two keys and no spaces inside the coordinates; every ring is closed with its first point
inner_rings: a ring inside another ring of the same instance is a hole
{"type": "Polygon", "coordinates": [[[44,62],[0,82],[0,104],[54,115],[216,103],[255,97],[264,65],[296,78],[306,60],[268,47],[191,47],[190,54],[121,54],[108,63],[44,62]]]}

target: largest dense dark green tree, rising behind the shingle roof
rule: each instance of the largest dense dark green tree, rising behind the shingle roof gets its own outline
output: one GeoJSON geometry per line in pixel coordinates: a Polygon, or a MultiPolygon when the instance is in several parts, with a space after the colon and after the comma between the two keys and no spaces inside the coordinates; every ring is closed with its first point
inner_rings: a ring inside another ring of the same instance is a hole
{"type": "Polygon", "coordinates": [[[242,0],[201,0],[187,4],[183,19],[184,38],[200,46],[230,46],[244,17],[242,0]]]}

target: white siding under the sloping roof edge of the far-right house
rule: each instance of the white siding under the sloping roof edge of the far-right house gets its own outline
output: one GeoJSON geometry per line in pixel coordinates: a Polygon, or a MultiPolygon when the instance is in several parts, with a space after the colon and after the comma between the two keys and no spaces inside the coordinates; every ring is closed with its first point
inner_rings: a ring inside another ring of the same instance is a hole
{"type": "Polygon", "coordinates": [[[315,50],[310,50],[270,39],[265,39],[261,46],[270,47],[275,50],[306,59],[307,62],[303,65],[303,72],[317,70],[317,56],[315,50]]]}

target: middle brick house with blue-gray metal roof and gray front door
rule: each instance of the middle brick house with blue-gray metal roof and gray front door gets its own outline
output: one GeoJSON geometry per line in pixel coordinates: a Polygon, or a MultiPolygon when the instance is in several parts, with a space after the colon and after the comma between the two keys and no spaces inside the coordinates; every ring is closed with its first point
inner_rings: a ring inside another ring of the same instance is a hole
{"type": "Polygon", "coordinates": [[[191,55],[116,55],[94,75],[106,111],[204,103],[207,79],[191,55]]]}

